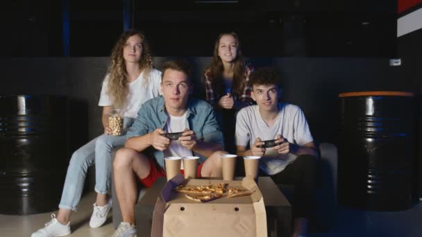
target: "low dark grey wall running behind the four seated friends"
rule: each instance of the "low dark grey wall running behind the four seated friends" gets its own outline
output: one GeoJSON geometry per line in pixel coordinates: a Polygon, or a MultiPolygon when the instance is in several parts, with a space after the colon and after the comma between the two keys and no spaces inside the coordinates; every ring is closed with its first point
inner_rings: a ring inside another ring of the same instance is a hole
{"type": "MultiPolygon", "coordinates": [[[[155,58],[160,66],[166,58],[155,58]]],[[[203,98],[201,71],[211,58],[187,58],[196,75],[195,96],[203,98]]],[[[282,76],[282,100],[302,107],[314,139],[337,143],[338,94],[345,91],[415,91],[415,81],[388,60],[351,58],[248,58],[256,67],[273,65],[282,76]]],[[[108,58],[0,58],[0,94],[60,94],[85,101],[90,139],[101,134],[101,82],[108,58]]],[[[415,91],[417,92],[417,91],[415,91]]]]}

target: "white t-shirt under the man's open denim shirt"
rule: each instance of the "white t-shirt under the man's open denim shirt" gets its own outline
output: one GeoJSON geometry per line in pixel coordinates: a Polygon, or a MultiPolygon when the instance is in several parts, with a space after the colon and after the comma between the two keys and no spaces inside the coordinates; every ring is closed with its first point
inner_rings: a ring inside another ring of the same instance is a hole
{"type": "MultiPolygon", "coordinates": [[[[167,123],[165,125],[165,132],[183,132],[185,128],[189,129],[187,123],[187,112],[182,116],[171,116],[167,114],[167,123]]],[[[180,141],[171,141],[170,146],[164,150],[164,157],[192,157],[192,150],[189,150],[180,144],[180,141]]],[[[183,170],[183,162],[180,169],[183,170]]]]}

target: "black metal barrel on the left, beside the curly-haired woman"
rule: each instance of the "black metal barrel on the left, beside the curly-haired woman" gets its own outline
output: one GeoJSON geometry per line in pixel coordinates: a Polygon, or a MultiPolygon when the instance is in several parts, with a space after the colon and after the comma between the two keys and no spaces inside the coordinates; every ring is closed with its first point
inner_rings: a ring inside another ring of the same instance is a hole
{"type": "Polygon", "coordinates": [[[67,164],[67,99],[0,96],[0,213],[57,209],[67,164]]]}

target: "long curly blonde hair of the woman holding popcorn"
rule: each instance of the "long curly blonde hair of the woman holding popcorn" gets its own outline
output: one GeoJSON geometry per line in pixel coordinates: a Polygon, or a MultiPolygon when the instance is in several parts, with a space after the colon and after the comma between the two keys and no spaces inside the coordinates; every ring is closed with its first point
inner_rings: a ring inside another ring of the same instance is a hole
{"type": "Polygon", "coordinates": [[[112,106],[122,108],[126,104],[128,95],[128,72],[123,57],[123,49],[129,37],[138,35],[142,39],[142,55],[140,69],[144,71],[144,85],[149,82],[149,73],[153,68],[149,44],[145,40],[143,33],[137,30],[128,30],[123,33],[112,49],[110,67],[108,67],[108,88],[107,94],[110,96],[112,106]]]}

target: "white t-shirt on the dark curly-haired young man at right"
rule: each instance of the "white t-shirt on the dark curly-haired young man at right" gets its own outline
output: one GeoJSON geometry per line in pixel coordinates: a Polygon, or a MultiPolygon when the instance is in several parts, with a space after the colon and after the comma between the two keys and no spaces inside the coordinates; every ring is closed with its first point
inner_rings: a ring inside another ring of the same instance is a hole
{"type": "MultiPolygon", "coordinates": [[[[271,127],[262,119],[258,105],[241,109],[236,120],[236,145],[247,146],[249,143],[249,146],[252,147],[257,137],[265,141],[276,139],[277,134],[299,146],[313,141],[305,115],[300,107],[288,103],[278,103],[278,109],[277,121],[271,127]]],[[[268,175],[275,175],[284,170],[287,164],[294,159],[296,159],[296,155],[292,153],[280,155],[276,150],[267,148],[264,157],[260,160],[260,169],[268,175]]]]}

